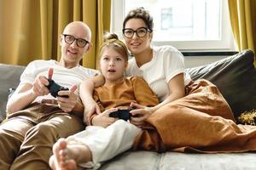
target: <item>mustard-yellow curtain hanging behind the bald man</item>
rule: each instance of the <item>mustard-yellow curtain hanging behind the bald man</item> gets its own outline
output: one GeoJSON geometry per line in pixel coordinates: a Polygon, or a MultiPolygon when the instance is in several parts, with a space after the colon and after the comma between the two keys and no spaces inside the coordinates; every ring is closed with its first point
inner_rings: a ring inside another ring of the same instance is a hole
{"type": "Polygon", "coordinates": [[[0,0],[0,63],[27,65],[61,57],[59,37],[73,20],[92,31],[93,48],[82,65],[96,68],[103,31],[109,31],[111,0],[0,0]]]}

